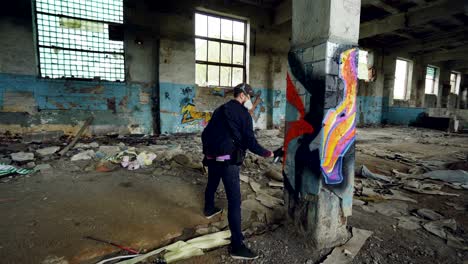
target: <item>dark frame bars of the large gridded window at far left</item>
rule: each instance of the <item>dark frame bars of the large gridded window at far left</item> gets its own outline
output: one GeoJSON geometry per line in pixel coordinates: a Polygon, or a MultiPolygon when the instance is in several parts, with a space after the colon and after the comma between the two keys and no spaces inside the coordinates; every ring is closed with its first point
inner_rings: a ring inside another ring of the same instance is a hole
{"type": "Polygon", "coordinates": [[[114,26],[122,26],[126,22],[125,19],[125,5],[124,5],[125,0],[122,0],[122,23],[116,23],[113,21],[105,21],[105,20],[97,20],[97,19],[90,19],[90,18],[81,18],[81,17],[74,17],[74,16],[69,16],[69,15],[63,15],[63,14],[53,14],[49,12],[43,12],[43,11],[38,11],[37,10],[37,0],[31,0],[31,7],[32,7],[32,13],[33,13],[33,28],[35,31],[33,32],[34,34],[34,44],[35,44],[35,49],[36,49],[36,64],[37,64],[37,72],[38,72],[38,78],[40,79],[49,79],[49,80],[79,80],[79,81],[95,81],[96,77],[99,78],[99,81],[101,82],[116,82],[116,83],[123,83],[127,81],[127,74],[126,74],[126,69],[127,69],[127,60],[126,60],[126,41],[125,41],[125,35],[124,39],[122,40],[122,52],[112,52],[112,51],[93,51],[93,50],[83,50],[83,49],[72,49],[72,48],[63,48],[59,47],[61,50],[66,50],[66,51],[77,51],[77,52],[85,52],[85,53],[97,53],[97,54],[117,54],[117,55],[122,55],[123,56],[123,79],[122,80],[109,80],[106,79],[105,76],[95,76],[93,78],[83,78],[83,77],[72,77],[72,76],[62,76],[59,78],[54,78],[54,77],[49,77],[49,76],[42,76],[42,70],[41,70],[41,53],[40,53],[40,48],[53,48],[53,46],[43,46],[40,45],[39,43],[39,25],[38,25],[38,15],[37,14],[43,14],[43,15],[48,15],[48,16],[55,16],[57,18],[70,18],[70,19],[76,19],[76,20],[83,20],[83,21],[89,21],[89,22],[95,22],[95,23],[102,23],[102,24],[107,24],[108,26],[114,25],[114,26]]]}

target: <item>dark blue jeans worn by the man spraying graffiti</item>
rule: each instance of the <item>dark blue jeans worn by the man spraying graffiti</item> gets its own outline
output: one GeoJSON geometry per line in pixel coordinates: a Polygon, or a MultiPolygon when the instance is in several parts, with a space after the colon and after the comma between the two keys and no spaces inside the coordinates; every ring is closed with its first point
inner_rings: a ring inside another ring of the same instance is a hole
{"type": "Polygon", "coordinates": [[[242,245],[244,236],[241,229],[241,193],[239,182],[239,166],[225,162],[211,161],[208,164],[208,184],[205,190],[205,209],[212,209],[216,189],[219,181],[223,179],[224,189],[228,199],[228,221],[231,230],[231,245],[242,245]]]}

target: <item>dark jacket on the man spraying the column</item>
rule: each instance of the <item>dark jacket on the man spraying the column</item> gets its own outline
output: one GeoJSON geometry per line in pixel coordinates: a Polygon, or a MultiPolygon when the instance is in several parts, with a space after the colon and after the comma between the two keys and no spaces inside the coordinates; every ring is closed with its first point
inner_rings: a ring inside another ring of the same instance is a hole
{"type": "Polygon", "coordinates": [[[203,154],[207,156],[231,155],[235,148],[250,150],[267,157],[270,151],[260,146],[255,138],[252,117],[237,100],[218,107],[202,133],[203,154]]]}

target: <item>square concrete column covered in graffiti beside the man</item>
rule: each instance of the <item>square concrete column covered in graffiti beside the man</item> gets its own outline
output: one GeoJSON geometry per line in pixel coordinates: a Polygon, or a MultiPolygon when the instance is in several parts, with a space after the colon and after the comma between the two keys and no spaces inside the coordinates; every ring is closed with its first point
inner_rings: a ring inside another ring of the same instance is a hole
{"type": "Polygon", "coordinates": [[[354,188],[360,0],[293,0],[285,200],[317,248],[346,241],[354,188]]]}

